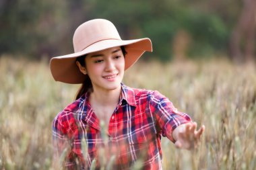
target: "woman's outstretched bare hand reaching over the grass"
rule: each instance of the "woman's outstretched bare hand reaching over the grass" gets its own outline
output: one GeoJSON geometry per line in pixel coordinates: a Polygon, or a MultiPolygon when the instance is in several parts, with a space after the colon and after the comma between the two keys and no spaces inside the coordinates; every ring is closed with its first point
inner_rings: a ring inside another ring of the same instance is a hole
{"type": "Polygon", "coordinates": [[[205,126],[201,126],[199,130],[197,130],[196,122],[178,126],[172,132],[172,137],[174,140],[176,140],[175,146],[177,148],[185,148],[188,150],[197,148],[200,142],[201,134],[203,134],[204,130],[205,126]]]}

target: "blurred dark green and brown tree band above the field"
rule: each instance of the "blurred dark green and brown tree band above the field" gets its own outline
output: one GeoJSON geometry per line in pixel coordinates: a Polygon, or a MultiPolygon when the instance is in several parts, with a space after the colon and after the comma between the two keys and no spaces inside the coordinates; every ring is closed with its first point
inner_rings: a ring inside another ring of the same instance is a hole
{"type": "Polygon", "coordinates": [[[123,40],[148,37],[148,58],[255,59],[254,0],[1,0],[0,54],[39,59],[73,52],[80,24],[105,18],[123,40]],[[157,56],[157,57],[156,57],[157,56]]]}

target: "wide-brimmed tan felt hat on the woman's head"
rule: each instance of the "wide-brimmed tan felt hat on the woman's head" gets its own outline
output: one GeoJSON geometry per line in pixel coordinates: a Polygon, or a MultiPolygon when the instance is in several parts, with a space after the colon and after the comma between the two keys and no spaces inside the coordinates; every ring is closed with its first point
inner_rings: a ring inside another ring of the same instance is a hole
{"type": "Polygon", "coordinates": [[[92,19],[75,30],[73,54],[51,58],[50,67],[53,78],[55,81],[64,83],[83,83],[85,76],[75,63],[77,56],[116,46],[125,46],[127,52],[125,70],[131,67],[145,51],[152,52],[152,43],[149,38],[121,40],[112,22],[106,19],[92,19]]]}

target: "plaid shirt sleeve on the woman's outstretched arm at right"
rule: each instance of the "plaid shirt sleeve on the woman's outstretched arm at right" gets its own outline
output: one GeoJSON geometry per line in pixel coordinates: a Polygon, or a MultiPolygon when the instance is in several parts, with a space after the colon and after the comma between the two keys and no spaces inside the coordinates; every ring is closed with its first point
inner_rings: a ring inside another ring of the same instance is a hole
{"type": "Polygon", "coordinates": [[[181,124],[191,122],[191,118],[188,114],[179,112],[177,108],[174,108],[172,102],[158,91],[152,93],[150,110],[154,113],[156,123],[160,128],[162,136],[170,134],[168,138],[172,142],[175,142],[171,135],[173,130],[181,124]]]}

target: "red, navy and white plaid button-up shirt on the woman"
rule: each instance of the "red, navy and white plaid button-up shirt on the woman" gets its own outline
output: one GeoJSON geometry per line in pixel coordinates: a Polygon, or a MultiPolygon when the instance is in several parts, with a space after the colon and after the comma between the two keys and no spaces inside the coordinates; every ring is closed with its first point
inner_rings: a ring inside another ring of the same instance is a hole
{"type": "MultiPolygon", "coordinates": [[[[67,106],[53,122],[55,159],[66,169],[162,169],[161,136],[191,121],[158,91],[123,85],[108,129],[94,114],[89,93],[67,106]],[[107,130],[106,130],[107,129],[107,130]],[[142,163],[142,164],[141,164],[142,163]]],[[[168,138],[172,142],[171,135],[168,138]]]]}

